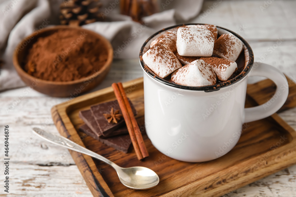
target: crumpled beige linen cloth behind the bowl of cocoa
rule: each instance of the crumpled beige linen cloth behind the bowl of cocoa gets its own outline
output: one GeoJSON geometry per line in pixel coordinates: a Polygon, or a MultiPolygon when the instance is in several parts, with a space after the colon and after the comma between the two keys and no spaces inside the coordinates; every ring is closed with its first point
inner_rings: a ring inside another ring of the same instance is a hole
{"type": "MultiPolygon", "coordinates": [[[[25,86],[17,75],[12,54],[20,41],[33,31],[59,24],[59,5],[65,0],[0,0],[0,91],[25,86]]],[[[162,28],[187,21],[201,10],[202,0],[160,0],[159,13],[143,23],[119,14],[116,0],[101,0],[102,13],[112,22],[95,22],[83,28],[105,36],[114,48],[114,58],[137,58],[144,41],[162,28]],[[115,6],[114,6],[115,5],[115,6]]]]}

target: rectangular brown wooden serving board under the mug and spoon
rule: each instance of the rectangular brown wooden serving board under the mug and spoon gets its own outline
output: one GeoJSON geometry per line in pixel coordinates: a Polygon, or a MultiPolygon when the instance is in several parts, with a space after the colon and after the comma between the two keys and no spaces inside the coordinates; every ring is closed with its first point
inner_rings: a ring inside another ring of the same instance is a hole
{"type": "MultiPolygon", "coordinates": [[[[296,106],[296,84],[289,80],[289,97],[281,110],[296,106]]],[[[133,102],[140,125],[144,123],[143,79],[123,84],[133,102]]],[[[262,104],[275,92],[270,80],[250,84],[246,106],[262,104]]],[[[133,149],[125,154],[78,131],[83,121],[80,110],[114,100],[111,87],[77,97],[52,108],[52,118],[59,133],[86,148],[107,157],[122,167],[145,166],[154,170],[160,183],[148,190],[132,190],[122,185],[115,170],[69,150],[94,196],[222,196],[244,185],[296,164],[296,133],[279,115],[244,124],[237,145],[226,155],[209,162],[188,163],[171,159],[157,151],[144,135],[149,157],[139,161],[133,149]]]]}

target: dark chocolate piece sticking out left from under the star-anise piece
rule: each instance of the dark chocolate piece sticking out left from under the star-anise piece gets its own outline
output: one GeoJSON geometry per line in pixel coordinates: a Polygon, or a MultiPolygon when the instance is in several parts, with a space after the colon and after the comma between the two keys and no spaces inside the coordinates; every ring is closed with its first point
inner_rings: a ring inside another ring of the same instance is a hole
{"type": "Polygon", "coordinates": [[[96,119],[91,113],[91,110],[83,110],[79,112],[79,117],[83,120],[83,122],[93,131],[94,134],[97,135],[97,138],[102,136],[101,129],[96,123],[96,119]]]}

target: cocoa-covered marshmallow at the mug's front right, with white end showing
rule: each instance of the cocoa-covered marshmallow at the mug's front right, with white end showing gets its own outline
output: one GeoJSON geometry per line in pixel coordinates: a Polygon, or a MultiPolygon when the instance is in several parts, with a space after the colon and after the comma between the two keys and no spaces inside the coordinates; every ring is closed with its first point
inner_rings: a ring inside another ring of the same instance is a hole
{"type": "Polygon", "coordinates": [[[210,64],[220,81],[227,81],[234,71],[237,70],[237,63],[235,61],[217,57],[201,57],[200,59],[210,64]]]}

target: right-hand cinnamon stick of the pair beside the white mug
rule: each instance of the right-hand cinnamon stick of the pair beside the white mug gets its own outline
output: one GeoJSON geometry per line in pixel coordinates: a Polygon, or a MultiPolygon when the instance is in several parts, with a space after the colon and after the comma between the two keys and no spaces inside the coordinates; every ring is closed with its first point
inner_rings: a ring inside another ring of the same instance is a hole
{"type": "Polygon", "coordinates": [[[126,93],[124,92],[122,83],[118,83],[118,87],[119,87],[119,91],[120,91],[120,93],[121,93],[121,95],[123,97],[123,101],[124,101],[124,103],[126,105],[128,115],[131,118],[131,123],[133,125],[133,130],[135,132],[136,139],[137,139],[139,148],[141,150],[142,156],[143,156],[143,158],[148,157],[149,154],[148,154],[147,148],[145,146],[143,136],[141,134],[141,131],[140,131],[140,128],[139,128],[138,123],[136,121],[136,118],[133,115],[133,110],[131,109],[131,105],[128,102],[128,97],[126,96],[126,93]]]}

